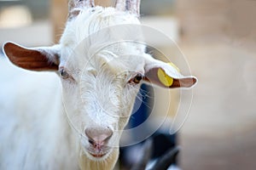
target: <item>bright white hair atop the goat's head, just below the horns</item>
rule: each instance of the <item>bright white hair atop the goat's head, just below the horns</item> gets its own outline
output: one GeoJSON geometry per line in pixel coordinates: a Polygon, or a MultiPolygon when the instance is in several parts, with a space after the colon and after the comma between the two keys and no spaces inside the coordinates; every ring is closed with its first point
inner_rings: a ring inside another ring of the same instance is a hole
{"type": "Polygon", "coordinates": [[[139,25],[140,21],[134,14],[118,11],[115,8],[83,8],[76,18],[67,22],[63,35],[75,32],[77,37],[74,40],[80,42],[103,28],[125,24],[139,25]]]}

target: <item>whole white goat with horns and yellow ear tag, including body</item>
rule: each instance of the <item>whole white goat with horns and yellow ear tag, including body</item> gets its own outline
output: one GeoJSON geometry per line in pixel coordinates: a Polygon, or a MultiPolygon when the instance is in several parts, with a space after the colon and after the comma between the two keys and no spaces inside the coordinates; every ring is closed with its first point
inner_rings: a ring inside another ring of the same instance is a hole
{"type": "Polygon", "coordinates": [[[14,65],[57,72],[61,83],[51,72],[18,73],[16,69],[15,80],[1,77],[5,98],[0,104],[0,169],[113,169],[120,132],[140,84],[153,82],[165,88],[195,84],[195,77],[183,77],[172,65],[153,59],[143,45],[120,42],[93,58],[77,48],[103,28],[140,25],[139,6],[140,0],[118,0],[115,8],[94,7],[93,0],[72,0],[59,44],[24,48],[5,43],[4,54],[14,65]],[[132,56],[127,59],[123,54],[132,56]]]}

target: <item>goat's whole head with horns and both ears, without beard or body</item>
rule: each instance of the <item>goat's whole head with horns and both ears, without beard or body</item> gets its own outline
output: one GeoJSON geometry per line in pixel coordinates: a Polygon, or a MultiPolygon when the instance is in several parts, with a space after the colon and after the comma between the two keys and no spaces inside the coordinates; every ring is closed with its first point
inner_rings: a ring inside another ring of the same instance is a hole
{"type": "Polygon", "coordinates": [[[118,147],[141,82],[164,88],[190,88],[196,82],[195,77],[183,77],[173,65],[145,54],[142,44],[102,46],[117,36],[109,26],[139,24],[139,3],[135,2],[127,6],[118,1],[116,9],[92,8],[93,1],[72,1],[60,44],[23,48],[7,42],[3,48],[10,61],[24,69],[59,72],[67,116],[90,160],[107,159],[113,147],[118,147]],[[130,13],[118,10],[125,8],[130,8],[130,13]],[[99,31],[104,29],[104,41],[90,38],[101,35],[99,31]]]}

